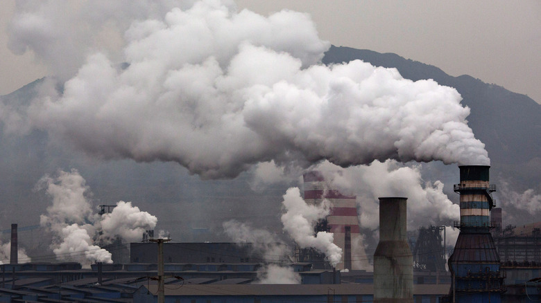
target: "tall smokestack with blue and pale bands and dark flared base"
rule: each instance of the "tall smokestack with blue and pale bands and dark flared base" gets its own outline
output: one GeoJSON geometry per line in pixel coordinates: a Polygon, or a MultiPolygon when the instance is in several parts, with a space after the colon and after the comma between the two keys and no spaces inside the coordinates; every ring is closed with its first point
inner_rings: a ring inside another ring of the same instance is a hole
{"type": "Polygon", "coordinates": [[[461,232],[448,261],[451,302],[501,302],[504,277],[490,235],[490,210],[495,206],[491,193],[496,191],[496,186],[489,184],[490,166],[459,168],[461,180],[454,185],[454,191],[461,195],[461,221],[455,226],[461,232]]]}

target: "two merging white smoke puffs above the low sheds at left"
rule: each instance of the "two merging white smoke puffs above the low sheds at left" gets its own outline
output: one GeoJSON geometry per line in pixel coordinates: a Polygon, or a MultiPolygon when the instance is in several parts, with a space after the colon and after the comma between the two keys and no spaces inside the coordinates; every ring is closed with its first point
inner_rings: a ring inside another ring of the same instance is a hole
{"type": "Polygon", "coordinates": [[[60,171],[55,177],[44,176],[37,189],[45,189],[53,200],[40,223],[53,233],[51,248],[62,261],[77,261],[85,267],[96,261],[111,263],[111,253],[97,246],[98,241],[117,236],[134,241],[157,223],[156,217],[132,207],[130,202],[120,201],[110,214],[94,213],[88,200],[92,194],[76,169],[60,171]],[[98,231],[102,231],[99,237],[98,231]]]}

